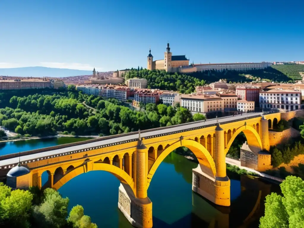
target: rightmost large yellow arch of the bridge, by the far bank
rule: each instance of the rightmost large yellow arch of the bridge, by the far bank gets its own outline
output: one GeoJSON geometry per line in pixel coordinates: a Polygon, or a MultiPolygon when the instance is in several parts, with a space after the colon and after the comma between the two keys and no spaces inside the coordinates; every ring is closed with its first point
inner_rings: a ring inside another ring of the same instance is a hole
{"type": "MultiPolygon", "coordinates": [[[[257,125],[258,126],[258,125],[257,125]]],[[[234,129],[233,129],[233,132],[234,132],[234,129]]],[[[230,146],[232,145],[234,139],[237,137],[237,135],[239,133],[243,132],[246,136],[246,139],[247,139],[247,143],[248,145],[250,146],[253,146],[253,147],[256,147],[258,148],[259,150],[262,150],[263,147],[262,147],[262,141],[261,141],[261,137],[260,135],[258,134],[258,132],[251,126],[248,126],[248,125],[244,125],[244,126],[241,126],[239,127],[234,133],[233,135],[231,136],[231,139],[229,140],[226,148],[225,148],[225,152],[226,154],[228,153],[228,150],[230,148],[230,146]]]]}

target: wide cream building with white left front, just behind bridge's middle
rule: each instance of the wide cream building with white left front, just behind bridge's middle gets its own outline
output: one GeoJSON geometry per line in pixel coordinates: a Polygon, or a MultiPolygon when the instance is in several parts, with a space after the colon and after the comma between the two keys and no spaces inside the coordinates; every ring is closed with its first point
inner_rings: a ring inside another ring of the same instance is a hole
{"type": "Polygon", "coordinates": [[[192,112],[223,112],[222,98],[217,95],[181,95],[181,107],[192,112]]]}

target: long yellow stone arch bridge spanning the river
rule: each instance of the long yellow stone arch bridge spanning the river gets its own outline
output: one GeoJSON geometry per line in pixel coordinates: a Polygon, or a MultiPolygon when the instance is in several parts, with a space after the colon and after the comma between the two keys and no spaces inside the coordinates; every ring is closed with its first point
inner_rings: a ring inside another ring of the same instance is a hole
{"type": "Polygon", "coordinates": [[[39,186],[59,189],[75,176],[104,170],[120,181],[119,209],[134,226],[152,227],[152,202],[147,189],[157,167],[171,151],[188,147],[198,159],[193,169],[192,189],[211,202],[230,206],[230,179],[225,157],[233,140],[243,132],[249,162],[263,170],[270,165],[268,119],[281,113],[261,113],[210,119],[115,136],[70,143],[0,157],[0,175],[15,187],[39,186]],[[12,168],[14,167],[14,168],[12,168]],[[27,168],[27,169],[26,169],[27,168]],[[28,172],[26,172],[28,170],[28,172]],[[41,176],[49,178],[42,186],[41,176]]]}

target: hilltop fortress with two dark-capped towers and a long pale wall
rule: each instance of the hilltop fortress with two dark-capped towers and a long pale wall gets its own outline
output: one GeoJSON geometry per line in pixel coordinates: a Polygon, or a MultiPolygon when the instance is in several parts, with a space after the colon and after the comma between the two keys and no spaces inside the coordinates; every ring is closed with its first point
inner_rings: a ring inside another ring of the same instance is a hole
{"type": "Polygon", "coordinates": [[[170,52],[169,43],[167,43],[166,51],[164,52],[164,59],[153,61],[153,55],[151,49],[147,56],[147,69],[148,70],[165,70],[167,72],[179,72],[179,73],[192,73],[196,71],[205,70],[258,70],[270,67],[270,63],[212,63],[212,64],[190,64],[189,59],[185,55],[172,55],[170,52]]]}

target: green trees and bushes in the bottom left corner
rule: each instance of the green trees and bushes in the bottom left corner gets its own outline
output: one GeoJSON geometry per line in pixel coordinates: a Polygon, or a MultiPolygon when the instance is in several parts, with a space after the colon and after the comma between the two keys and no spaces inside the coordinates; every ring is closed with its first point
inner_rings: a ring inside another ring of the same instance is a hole
{"type": "Polygon", "coordinates": [[[97,228],[91,218],[83,214],[77,205],[67,217],[69,199],[47,188],[42,192],[37,187],[29,190],[13,190],[0,182],[0,226],[2,227],[73,227],[97,228]],[[83,217],[85,217],[83,219],[83,217]],[[79,219],[78,219],[79,218],[79,219]]]}

